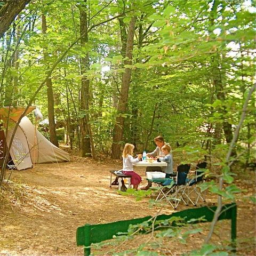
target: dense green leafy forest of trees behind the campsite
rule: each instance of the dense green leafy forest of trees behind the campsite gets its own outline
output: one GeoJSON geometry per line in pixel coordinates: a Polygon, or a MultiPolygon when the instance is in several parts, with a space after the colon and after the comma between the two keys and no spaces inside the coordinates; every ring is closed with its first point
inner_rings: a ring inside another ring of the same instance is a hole
{"type": "MultiPolygon", "coordinates": [[[[1,38],[1,107],[38,106],[51,142],[82,156],[119,159],[126,142],[151,150],[159,134],[218,156],[254,83],[254,5],[32,1],[1,38]]],[[[232,151],[246,150],[245,162],[254,107],[252,98],[232,151]]]]}

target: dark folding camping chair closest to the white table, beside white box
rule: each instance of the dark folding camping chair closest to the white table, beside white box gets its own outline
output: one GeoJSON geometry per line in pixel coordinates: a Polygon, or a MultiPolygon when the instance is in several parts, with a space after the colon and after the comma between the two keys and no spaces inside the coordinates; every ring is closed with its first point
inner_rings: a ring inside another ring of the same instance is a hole
{"type": "Polygon", "coordinates": [[[159,194],[157,195],[155,201],[161,201],[162,199],[166,199],[166,201],[173,207],[173,209],[177,209],[180,201],[188,205],[184,197],[187,197],[186,179],[189,169],[189,164],[181,164],[177,167],[177,174],[175,180],[172,180],[170,178],[149,180],[156,183],[157,187],[160,188],[159,194]],[[171,187],[163,187],[167,185],[171,185],[171,187]]]}

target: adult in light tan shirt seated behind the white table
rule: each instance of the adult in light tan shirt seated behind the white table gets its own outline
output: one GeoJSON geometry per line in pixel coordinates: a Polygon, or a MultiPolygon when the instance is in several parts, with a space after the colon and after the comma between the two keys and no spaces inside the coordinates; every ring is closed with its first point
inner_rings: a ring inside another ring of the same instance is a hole
{"type": "MultiPolygon", "coordinates": [[[[148,157],[156,157],[156,156],[164,156],[163,151],[161,150],[161,148],[166,145],[166,143],[164,142],[164,138],[162,136],[157,136],[154,139],[155,143],[156,143],[156,149],[151,152],[151,153],[147,153],[148,157]]],[[[163,172],[162,167],[160,166],[149,166],[146,168],[146,172],[163,172]]],[[[152,182],[148,181],[148,185],[146,187],[143,187],[141,189],[143,190],[148,190],[150,187],[152,186],[152,182]]]]}

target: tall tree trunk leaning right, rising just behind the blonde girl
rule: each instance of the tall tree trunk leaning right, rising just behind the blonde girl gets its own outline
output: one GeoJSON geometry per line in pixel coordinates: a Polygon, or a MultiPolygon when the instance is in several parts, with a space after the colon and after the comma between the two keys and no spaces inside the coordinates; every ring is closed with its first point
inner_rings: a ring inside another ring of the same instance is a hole
{"type": "MultiPolygon", "coordinates": [[[[133,37],[135,31],[135,17],[132,17],[129,25],[128,35],[127,35],[127,47],[126,47],[126,57],[127,60],[124,62],[126,65],[131,65],[132,63],[132,50],[133,50],[133,37]]],[[[128,92],[130,87],[131,79],[131,68],[125,68],[125,73],[123,74],[122,87],[120,92],[120,97],[117,107],[117,117],[116,124],[114,127],[113,143],[111,148],[111,158],[119,159],[121,153],[121,142],[124,132],[124,117],[127,101],[128,92]]]]}

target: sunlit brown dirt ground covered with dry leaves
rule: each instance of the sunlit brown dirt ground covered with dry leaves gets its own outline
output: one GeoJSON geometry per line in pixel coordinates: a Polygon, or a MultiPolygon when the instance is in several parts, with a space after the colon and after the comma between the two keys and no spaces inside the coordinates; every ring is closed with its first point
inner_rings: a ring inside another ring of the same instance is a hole
{"type": "MultiPolygon", "coordinates": [[[[19,202],[18,198],[13,200],[12,207],[1,206],[0,255],[83,255],[83,247],[76,246],[77,227],[154,215],[158,208],[149,209],[149,198],[137,202],[133,196],[118,195],[116,187],[109,188],[109,171],[121,167],[120,161],[73,156],[68,163],[37,164],[34,169],[14,171],[11,181],[19,184],[20,191],[25,191],[26,200],[19,202]]],[[[137,167],[135,171],[143,179],[140,187],[145,186],[145,169],[137,167]]],[[[240,241],[237,254],[255,255],[255,205],[247,200],[255,195],[255,174],[252,171],[250,175],[241,174],[236,177],[236,183],[246,189],[237,198],[240,241]]],[[[206,205],[216,202],[210,193],[206,199],[206,205]]],[[[194,206],[179,205],[178,210],[187,207],[194,206]]],[[[165,206],[161,213],[172,212],[171,206],[165,206]]],[[[169,238],[166,250],[158,251],[158,255],[181,255],[199,247],[207,228],[209,225],[199,236],[191,235],[179,249],[177,241],[169,238]]],[[[213,240],[219,239],[217,244],[221,244],[229,239],[229,234],[230,222],[220,221],[213,240]]],[[[137,239],[137,243],[141,241],[137,239]]],[[[107,250],[92,249],[92,252],[104,255],[107,250]]]]}

